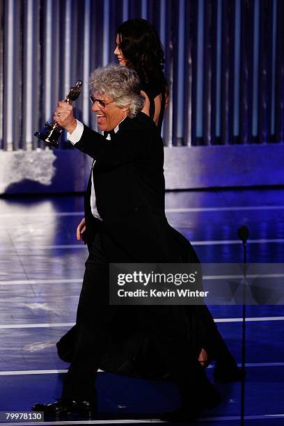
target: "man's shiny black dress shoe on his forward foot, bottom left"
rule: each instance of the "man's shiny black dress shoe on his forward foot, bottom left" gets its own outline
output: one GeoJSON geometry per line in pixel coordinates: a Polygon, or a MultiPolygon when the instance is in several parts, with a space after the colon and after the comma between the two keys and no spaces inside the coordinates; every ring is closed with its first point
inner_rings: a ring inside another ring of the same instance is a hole
{"type": "Polygon", "coordinates": [[[47,415],[65,416],[71,413],[96,413],[97,407],[89,401],[63,401],[51,404],[34,404],[33,411],[43,411],[47,415]]]}

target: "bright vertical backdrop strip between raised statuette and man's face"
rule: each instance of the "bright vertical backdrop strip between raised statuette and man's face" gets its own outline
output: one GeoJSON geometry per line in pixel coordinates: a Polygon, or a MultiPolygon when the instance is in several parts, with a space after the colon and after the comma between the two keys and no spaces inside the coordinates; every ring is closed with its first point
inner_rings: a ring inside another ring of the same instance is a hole
{"type": "Polygon", "coordinates": [[[90,117],[90,100],[88,90],[88,77],[90,74],[90,0],[84,2],[84,64],[83,64],[83,111],[84,123],[88,123],[90,117]]]}

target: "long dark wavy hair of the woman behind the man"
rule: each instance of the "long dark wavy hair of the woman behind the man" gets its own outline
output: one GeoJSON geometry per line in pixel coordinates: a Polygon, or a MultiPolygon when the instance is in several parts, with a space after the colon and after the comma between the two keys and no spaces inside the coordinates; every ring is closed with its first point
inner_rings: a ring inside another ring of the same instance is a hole
{"type": "Polygon", "coordinates": [[[127,66],[137,72],[142,88],[148,84],[166,88],[164,49],[154,26],[142,18],[129,19],[117,33],[127,66]]]}

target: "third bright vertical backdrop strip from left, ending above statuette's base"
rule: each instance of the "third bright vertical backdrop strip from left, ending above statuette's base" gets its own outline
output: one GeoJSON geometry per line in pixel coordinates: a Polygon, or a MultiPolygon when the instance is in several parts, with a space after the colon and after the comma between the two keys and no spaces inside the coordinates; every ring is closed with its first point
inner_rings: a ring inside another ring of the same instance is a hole
{"type": "Polygon", "coordinates": [[[54,109],[52,105],[52,0],[46,1],[45,9],[45,86],[44,86],[44,120],[47,120],[54,109]]]}

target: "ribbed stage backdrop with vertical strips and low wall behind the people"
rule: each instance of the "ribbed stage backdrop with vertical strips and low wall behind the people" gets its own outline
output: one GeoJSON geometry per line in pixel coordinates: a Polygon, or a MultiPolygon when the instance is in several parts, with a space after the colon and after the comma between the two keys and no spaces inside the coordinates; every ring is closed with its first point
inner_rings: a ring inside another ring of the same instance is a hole
{"type": "Polygon", "coordinates": [[[33,133],[77,79],[76,116],[96,128],[88,76],[132,17],[165,47],[167,188],[283,184],[283,0],[2,0],[0,194],[84,189],[89,161],[65,134],[52,151],[33,133]]]}

